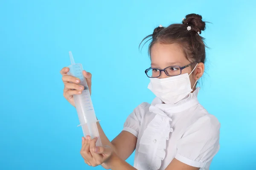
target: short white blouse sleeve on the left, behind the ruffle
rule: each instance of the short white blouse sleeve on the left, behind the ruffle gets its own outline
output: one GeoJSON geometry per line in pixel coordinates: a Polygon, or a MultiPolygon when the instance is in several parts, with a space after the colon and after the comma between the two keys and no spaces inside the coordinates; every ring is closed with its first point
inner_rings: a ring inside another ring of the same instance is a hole
{"type": "Polygon", "coordinates": [[[147,103],[142,103],[134,109],[134,111],[128,116],[124,123],[123,130],[132,133],[134,136],[138,137],[140,131],[140,122],[145,113],[145,106],[147,103]]]}

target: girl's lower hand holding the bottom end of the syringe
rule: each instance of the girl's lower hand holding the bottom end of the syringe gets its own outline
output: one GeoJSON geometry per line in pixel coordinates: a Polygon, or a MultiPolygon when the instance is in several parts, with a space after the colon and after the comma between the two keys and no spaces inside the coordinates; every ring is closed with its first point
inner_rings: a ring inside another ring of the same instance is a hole
{"type": "Polygon", "coordinates": [[[111,157],[113,150],[109,146],[96,147],[96,141],[97,138],[91,140],[90,136],[83,137],[80,151],[81,156],[89,166],[96,167],[101,164],[105,169],[110,169],[104,162],[111,157]]]}

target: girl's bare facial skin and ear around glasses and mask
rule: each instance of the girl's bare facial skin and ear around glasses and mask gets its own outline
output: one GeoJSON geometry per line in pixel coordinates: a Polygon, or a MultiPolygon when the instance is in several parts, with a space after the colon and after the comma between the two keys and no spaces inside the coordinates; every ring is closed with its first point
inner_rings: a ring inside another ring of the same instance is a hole
{"type": "MultiPolygon", "coordinates": [[[[151,67],[152,68],[160,68],[164,69],[169,66],[178,65],[183,67],[185,65],[190,64],[191,62],[186,59],[183,54],[182,48],[180,48],[177,44],[162,44],[155,43],[151,48],[151,67]]],[[[188,73],[194,69],[193,66],[189,66],[184,68],[181,74],[188,73]]],[[[195,84],[195,81],[202,77],[204,73],[204,63],[198,63],[197,67],[193,71],[193,73],[189,76],[191,82],[191,88],[195,84]]],[[[160,79],[167,78],[167,76],[163,71],[161,72],[160,79]]],[[[194,90],[194,89],[193,89],[194,90]]]]}

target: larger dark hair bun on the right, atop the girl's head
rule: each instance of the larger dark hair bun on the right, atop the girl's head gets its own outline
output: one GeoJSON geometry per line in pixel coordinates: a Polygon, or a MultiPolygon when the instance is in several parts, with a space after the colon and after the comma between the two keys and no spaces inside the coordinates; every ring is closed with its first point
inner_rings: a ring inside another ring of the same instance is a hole
{"type": "Polygon", "coordinates": [[[182,21],[183,24],[191,26],[193,31],[200,32],[205,30],[205,22],[202,21],[202,16],[198,14],[188,14],[186,19],[182,21]]]}

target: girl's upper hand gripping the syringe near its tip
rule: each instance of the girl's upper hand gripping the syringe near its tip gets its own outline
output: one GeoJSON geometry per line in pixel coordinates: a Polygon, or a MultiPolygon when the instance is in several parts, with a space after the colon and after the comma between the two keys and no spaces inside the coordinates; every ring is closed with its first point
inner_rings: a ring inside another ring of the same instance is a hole
{"type": "MultiPolygon", "coordinates": [[[[75,106],[74,94],[81,94],[81,92],[84,90],[84,86],[79,85],[80,79],[67,75],[67,72],[69,72],[68,67],[64,67],[61,69],[61,75],[62,75],[62,81],[64,83],[64,91],[63,96],[65,99],[67,99],[68,102],[70,102],[71,105],[75,106]]],[[[89,72],[83,71],[83,75],[86,79],[90,94],[91,94],[91,85],[92,85],[92,74],[89,72]]]]}

